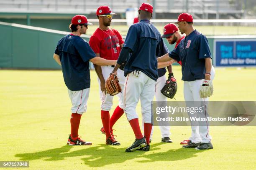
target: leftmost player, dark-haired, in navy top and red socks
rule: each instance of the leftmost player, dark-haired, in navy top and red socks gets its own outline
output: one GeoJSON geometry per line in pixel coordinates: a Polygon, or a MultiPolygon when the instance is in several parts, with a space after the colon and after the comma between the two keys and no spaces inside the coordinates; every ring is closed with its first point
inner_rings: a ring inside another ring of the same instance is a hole
{"type": "Polygon", "coordinates": [[[69,145],[92,145],[78,136],[81,116],[87,110],[87,100],[90,91],[89,61],[97,65],[115,65],[114,60],[105,60],[96,57],[88,42],[80,36],[86,33],[88,25],[84,15],[76,15],[72,18],[69,28],[71,34],[59,40],[54,52],[54,60],[61,65],[64,82],[67,85],[71,107],[71,135],[69,145]]]}

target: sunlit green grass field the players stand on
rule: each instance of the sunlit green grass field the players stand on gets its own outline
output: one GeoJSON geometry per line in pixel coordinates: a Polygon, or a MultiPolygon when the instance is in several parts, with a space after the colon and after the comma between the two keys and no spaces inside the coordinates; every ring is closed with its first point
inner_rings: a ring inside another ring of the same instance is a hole
{"type": "MultiPolygon", "coordinates": [[[[180,66],[174,66],[179,86],[176,98],[184,100],[180,70],[180,66]]],[[[216,68],[215,91],[210,100],[255,100],[255,75],[256,68],[216,68]]],[[[149,152],[125,153],[134,135],[123,115],[114,126],[121,145],[105,145],[105,136],[100,133],[100,99],[94,71],[88,109],[79,129],[82,138],[93,145],[66,145],[71,102],[61,71],[0,70],[0,77],[0,161],[26,160],[28,169],[39,170],[255,169],[254,126],[212,126],[214,149],[204,151],[184,149],[179,144],[189,138],[189,126],[171,128],[174,143],[160,143],[160,130],[155,127],[149,152]]],[[[114,98],[117,105],[117,97],[114,98]]],[[[137,111],[141,116],[139,105],[137,111]]]]}

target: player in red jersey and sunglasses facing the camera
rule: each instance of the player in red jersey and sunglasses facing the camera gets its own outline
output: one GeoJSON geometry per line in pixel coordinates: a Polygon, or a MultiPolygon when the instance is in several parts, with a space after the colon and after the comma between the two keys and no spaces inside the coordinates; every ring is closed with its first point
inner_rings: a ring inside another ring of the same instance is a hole
{"type": "MultiPolygon", "coordinates": [[[[117,30],[109,28],[112,16],[116,14],[112,13],[108,6],[100,6],[97,9],[96,14],[99,19],[99,28],[97,28],[90,37],[89,44],[92,47],[92,50],[96,53],[96,56],[108,60],[117,60],[124,41],[117,30]]],[[[113,135],[113,125],[123,115],[123,92],[118,94],[119,105],[115,108],[113,115],[110,118],[109,111],[113,105],[113,96],[107,94],[105,88],[105,80],[107,80],[115,65],[107,65],[103,67],[100,67],[99,65],[94,66],[100,86],[101,120],[103,124],[100,131],[106,135],[107,145],[120,145],[113,135]]],[[[123,90],[125,81],[124,71],[119,69],[117,76],[119,77],[119,83],[123,90]]]]}

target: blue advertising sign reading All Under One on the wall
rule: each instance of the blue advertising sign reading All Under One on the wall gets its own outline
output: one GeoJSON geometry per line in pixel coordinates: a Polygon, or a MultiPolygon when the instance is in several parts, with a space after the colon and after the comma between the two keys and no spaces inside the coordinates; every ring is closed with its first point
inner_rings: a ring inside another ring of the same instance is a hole
{"type": "Polygon", "coordinates": [[[256,66],[256,39],[215,39],[215,66],[256,66]]]}

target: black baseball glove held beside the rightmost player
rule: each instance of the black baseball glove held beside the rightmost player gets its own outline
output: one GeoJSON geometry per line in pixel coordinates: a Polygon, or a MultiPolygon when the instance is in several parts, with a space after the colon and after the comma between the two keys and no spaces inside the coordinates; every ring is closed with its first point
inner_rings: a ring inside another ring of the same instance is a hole
{"type": "Polygon", "coordinates": [[[161,93],[164,96],[172,99],[177,92],[177,88],[178,86],[176,79],[174,77],[171,77],[166,80],[165,85],[161,90],[161,93]]]}

